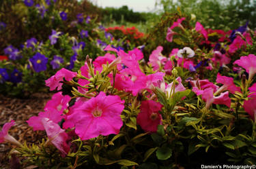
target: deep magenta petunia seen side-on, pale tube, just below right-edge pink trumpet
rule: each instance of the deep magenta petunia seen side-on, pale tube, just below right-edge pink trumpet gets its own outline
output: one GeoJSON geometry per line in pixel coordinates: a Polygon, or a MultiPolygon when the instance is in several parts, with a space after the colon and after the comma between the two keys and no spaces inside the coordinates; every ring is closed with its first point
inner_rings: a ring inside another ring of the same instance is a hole
{"type": "Polygon", "coordinates": [[[237,87],[233,83],[232,77],[222,76],[220,73],[218,73],[216,82],[223,84],[221,88],[218,88],[217,93],[224,92],[225,90],[229,90],[229,92],[231,92],[232,94],[234,94],[236,91],[241,92],[240,87],[237,87]]]}

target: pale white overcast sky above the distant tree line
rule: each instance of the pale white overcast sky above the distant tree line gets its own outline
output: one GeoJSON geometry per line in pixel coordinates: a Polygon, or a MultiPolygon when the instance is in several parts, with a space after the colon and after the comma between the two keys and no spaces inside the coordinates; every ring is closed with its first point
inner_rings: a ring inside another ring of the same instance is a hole
{"type": "Polygon", "coordinates": [[[127,5],[133,12],[152,12],[156,0],[89,0],[99,7],[122,7],[127,5]]]}

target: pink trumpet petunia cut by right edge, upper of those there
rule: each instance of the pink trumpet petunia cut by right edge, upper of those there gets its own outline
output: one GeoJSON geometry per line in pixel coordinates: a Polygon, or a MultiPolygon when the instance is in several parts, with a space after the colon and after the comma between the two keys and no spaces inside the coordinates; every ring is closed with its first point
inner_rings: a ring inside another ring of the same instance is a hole
{"type": "Polygon", "coordinates": [[[241,56],[240,60],[236,60],[233,64],[238,64],[240,67],[244,68],[249,74],[249,79],[252,79],[253,75],[256,73],[256,56],[254,54],[241,56]]]}

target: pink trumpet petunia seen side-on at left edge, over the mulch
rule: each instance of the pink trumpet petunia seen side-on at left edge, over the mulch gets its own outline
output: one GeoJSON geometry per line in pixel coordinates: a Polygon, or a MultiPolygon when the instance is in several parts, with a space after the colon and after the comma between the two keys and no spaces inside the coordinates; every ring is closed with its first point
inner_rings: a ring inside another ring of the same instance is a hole
{"type": "Polygon", "coordinates": [[[16,140],[13,136],[10,136],[8,134],[8,130],[10,130],[10,128],[12,126],[14,126],[14,125],[15,125],[15,121],[14,120],[12,120],[11,122],[5,123],[3,125],[3,128],[2,128],[2,130],[0,132],[0,143],[3,143],[5,141],[7,141],[7,142],[10,142],[10,143],[12,143],[14,145],[21,146],[21,144],[18,142],[18,140],[16,140]]]}

